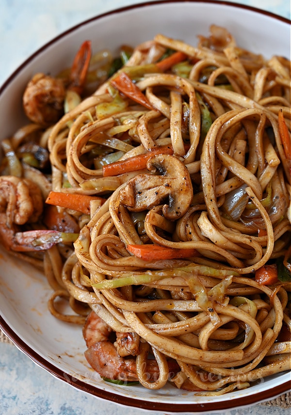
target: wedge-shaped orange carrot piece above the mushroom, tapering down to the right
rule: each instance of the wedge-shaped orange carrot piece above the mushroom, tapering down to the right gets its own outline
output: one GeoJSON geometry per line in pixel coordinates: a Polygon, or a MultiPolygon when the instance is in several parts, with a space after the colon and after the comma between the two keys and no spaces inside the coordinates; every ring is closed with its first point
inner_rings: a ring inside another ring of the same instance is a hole
{"type": "Polygon", "coordinates": [[[113,85],[114,88],[118,89],[118,91],[122,92],[128,98],[132,99],[133,101],[137,102],[138,104],[146,107],[148,109],[154,109],[150,102],[147,100],[146,96],[143,92],[132,82],[129,75],[125,72],[120,72],[119,75],[114,77],[110,83],[113,85]]]}

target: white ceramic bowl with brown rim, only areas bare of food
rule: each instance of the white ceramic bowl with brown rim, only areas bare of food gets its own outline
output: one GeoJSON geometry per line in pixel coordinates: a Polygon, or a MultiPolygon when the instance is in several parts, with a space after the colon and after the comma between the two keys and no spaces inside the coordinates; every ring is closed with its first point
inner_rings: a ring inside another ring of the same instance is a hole
{"type": "MultiPolygon", "coordinates": [[[[226,27],[239,46],[265,57],[290,58],[290,22],[279,16],[223,1],[162,1],[126,7],[94,17],[66,31],[36,51],[0,88],[1,137],[25,122],[21,97],[38,71],[56,74],[72,61],[77,47],[92,40],[94,51],[136,45],[160,32],[195,45],[210,24],[226,27]]],[[[226,410],[269,400],[289,390],[290,373],[264,379],[227,396],[195,397],[173,387],[149,391],[139,386],[104,383],[88,367],[79,326],[62,323],[48,311],[51,290],[29,265],[0,252],[0,327],[16,346],[51,374],[86,393],[121,404],[174,413],[226,410]]]]}

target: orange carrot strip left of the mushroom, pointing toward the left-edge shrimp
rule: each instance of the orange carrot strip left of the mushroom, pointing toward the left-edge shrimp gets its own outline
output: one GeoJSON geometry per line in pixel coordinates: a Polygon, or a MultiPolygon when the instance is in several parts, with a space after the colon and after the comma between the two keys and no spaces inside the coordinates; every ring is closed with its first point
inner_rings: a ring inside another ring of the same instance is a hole
{"type": "Polygon", "coordinates": [[[106,199],[98,196],[51,191],[49,192],[46,203],[54,206],[65,207],[67,209],[73,209],[86,215],[90,215],[90,202],[93,200],[99,200],[102,204],[106,199]]]}

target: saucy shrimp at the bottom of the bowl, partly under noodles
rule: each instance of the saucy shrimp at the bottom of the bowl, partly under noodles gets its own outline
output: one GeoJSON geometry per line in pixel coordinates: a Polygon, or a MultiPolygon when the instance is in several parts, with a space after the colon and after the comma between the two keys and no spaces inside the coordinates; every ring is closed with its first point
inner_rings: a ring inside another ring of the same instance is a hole
{"type": "MultiPolygon", "coordinates": [[[[137,382],[139,381],[136,372],[136,360],[131,357],[120,356],[114,345],[123,345],[126,341],[129,341],[129,347],[126,347],[127,353],[132,346],[132,339],[136,339],[133,333],[116,333],[116,337],[119,340],[113,344],[109,337],[112,333],[111,327],[105,323],[94,311],[91,311],[86,319],[86,323],[83,327],[83,337],[86,341],[88,349],[85,351],[85,357],[89,365],[99,373],[100,376],[112,379],[122,380],[125,382],[137,382]],[[125,340],[127,338],[127,340],[125,340]],[[122,341],[120,342],[120,340],[122,341]]],[[[139,342],[139,339],[138,339],[139,342]]],[[[123,348],[122,348],[123,349],[123,348]]],[[[133,347],[132,352],[138,354],[136,345],[133,347]]],[[[177,373],[180,370],[178,363],[171,359],[168,361],[169,369],[173,373],[177,373]]],[[[157,379],[159,376],[159,366],[154,359],[147,360],[146,373],[148,380],[157,379]]]]}

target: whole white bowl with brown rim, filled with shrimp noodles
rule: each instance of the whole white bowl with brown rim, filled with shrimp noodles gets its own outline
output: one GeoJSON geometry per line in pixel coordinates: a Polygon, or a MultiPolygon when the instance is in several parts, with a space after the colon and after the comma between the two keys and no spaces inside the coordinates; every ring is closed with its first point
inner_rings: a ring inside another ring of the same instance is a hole
{"type": "Polygon", "coordinates": [[[33,361],[173,414],[289,390],[289,36],[238,4],[139,4],[2,85],[0,327],[33,361]]]}

